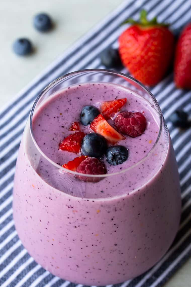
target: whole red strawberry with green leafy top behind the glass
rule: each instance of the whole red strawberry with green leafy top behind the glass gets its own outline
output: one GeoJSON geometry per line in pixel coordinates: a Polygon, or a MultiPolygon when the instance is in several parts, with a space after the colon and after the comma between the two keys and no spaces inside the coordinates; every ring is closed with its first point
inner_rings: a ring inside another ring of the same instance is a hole
{"type": "Polygon", "coordinates": [[[140,22],[132,19],[125,23],[133,25],[119,36],[121,61],[137,80],[145,85],[155,85],[167,72],[174,54],[174,36],[168,24],[157,23],[156,17],[147,20],[142,10],[140,22]]]}

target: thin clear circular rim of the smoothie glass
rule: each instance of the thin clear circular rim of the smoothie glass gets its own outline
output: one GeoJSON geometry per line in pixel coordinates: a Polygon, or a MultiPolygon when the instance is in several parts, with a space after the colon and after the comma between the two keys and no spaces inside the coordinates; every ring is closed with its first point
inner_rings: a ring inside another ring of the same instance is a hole
{"type": "Polygon", "coordinates": [[[138,80],[134,79],[133,77],[131,76],[127,76],[121,72],[116,72],[116,71],[113,71],[113,70],[108,70],[108,69],[83,69],[83,70],[79,70],[79,71],[74,71],[74,72],[71,72],[71,73],[67,73],[61,77],[58,77],[57,79],[55,79],[54,81],[52,81],[50,84],[48,84],[43,90],[42,92],[40,92],[40,94],[37,96],[32,108],[31,108],[31,111],[30,111],[30,115],[29,115],[29,130],[30,130],[30,135],[31,135],[31,138],[34,142],[34,145],[36,146],[37,150],[40,152],[40,154],[48,161],[50,162],[50,164],[54,165],[56,168],[58,168],[59,170],[63,171],[63,172],[67,172],[67,173],[70,173],[70,174],[74,174],[74,175],[78,175],[78,176],[85,176],[85,177],[94,177],[94,178],[105,178],[105,177],[110,177],[110,176],[115,176],[117,174],[122,174],[124,172],[127,172],[128,170],[131,170],[133,169],[134,167],[136,167],[137,165],[141,164],[142,162],[144,162],[148,157],[149,155],[151,154],[151,152],[153,151],[153,149],[155,148],[155,146],[157,145],[159,139],[160,139],[160,136],[161,136],[161,132],[162,132],[162,126],[163,126],[163,117],[162,117],[162,111],[161,111],[161,108],[156,100],[156,98],[153,96],[153,94],[148,90],[148,88],[146,86],[144,86],[142,83],[140,83],[138,80]],[[79,73],[86,73],[86,72],[105,72],[105,73],[110,73],[110,74],[113,74],[113,75],[117,75],[117,76],[120,76],[120,77],[123,77],[126,78],[126,79],[130,79],[131,81],[135,82],[136,84],[138,84],[139,86],[141,86],[141,88],[143,88],[148,94],[149,96],[153,99],[154,103],[155,103],[155,106],[157,107],[157,112],[158,112],[158,115],[159,115],[159,119],[160,119],[160,125],[159,125],[159,133],[158,133],[158,136],[157,136],[157,139],[155,141],[155,143],[153,144],[152,148],[149,150],[149,152],[147,152],[147,154],[141,158],[141,160],[139,160],[138,162],[136,162],[135,164],[133,164],[132,166],[129,166],[128,168],[125,168],[123,170],[120,170],[118,172],[113,172],[113,173],[109,173],[109,174],[83,174],[83,173],[80,173],[80,172],[76,172],[76,171],[72,171],[72,170],[68,170],[67,168],[64,168],[62,166],[60,166],[59,164],[57,164],[56,162],[54,162],[53,160],[51,160],[48,156],[46,156],[46,154],[44,154],[44,152],[41,150],[41,148],[39,147],[39,145],[37,144],[36,142],[36,139],[34,137],[34,133],[33,133],[33,129],[32,129],[32,119],[33,119],[33,114],[34,114],[34,110],[35,110],[35,107],[37,105],[37,103],[39,102],[39,100],[42,98],[44,92],[46,92],[49,88],[51,88],[52,86],[54,86],[54,84],[56,84],[57,82],[61,81],[62,79],[68,77],[68,76],[72,76],[72,75],[77,75],[79,73]]]}

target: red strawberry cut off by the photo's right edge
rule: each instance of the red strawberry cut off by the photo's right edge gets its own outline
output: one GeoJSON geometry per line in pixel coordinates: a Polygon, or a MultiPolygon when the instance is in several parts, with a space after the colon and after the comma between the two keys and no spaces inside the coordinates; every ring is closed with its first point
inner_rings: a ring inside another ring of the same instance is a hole
{"type": "Polygon", "coordinates": [[[178,88],[191,88],[191,23],[182,31],[176,46],[174,81],[178,88]]]}

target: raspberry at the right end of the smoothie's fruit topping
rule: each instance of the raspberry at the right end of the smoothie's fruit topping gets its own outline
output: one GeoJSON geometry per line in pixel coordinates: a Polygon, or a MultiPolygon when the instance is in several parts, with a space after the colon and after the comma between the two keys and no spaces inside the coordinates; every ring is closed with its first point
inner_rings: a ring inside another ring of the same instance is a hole
{"type": "Polygon", "coordinates": [[[116,129],[129,137],[141,135],[146,128],[146,119],[142,113],[122,112],[114,120],[116,129]]]}

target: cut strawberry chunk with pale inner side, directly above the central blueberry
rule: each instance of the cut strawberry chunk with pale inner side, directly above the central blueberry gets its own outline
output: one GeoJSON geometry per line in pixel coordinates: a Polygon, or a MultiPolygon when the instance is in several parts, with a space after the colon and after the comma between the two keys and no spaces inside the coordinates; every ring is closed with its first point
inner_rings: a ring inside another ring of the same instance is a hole
{"type": "Polygon", "coordinates": [[[105,119],[99,114],[90,124],[90,128],[100,135],[103,135],[112,144],[125,139],[123,135],[118,133],[105,119]]]}

